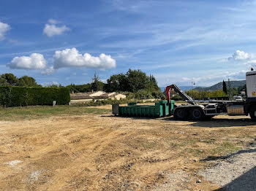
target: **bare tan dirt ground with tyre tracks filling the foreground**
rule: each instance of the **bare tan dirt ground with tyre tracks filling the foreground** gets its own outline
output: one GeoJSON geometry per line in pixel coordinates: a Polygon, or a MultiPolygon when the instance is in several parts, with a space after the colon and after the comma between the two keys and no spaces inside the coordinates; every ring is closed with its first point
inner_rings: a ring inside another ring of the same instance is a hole
{"type": "Polygon", "coordinates": [[[255,138],[249,117],[0,120],[0,190],[217,190],[197,172],[255,138]]]}

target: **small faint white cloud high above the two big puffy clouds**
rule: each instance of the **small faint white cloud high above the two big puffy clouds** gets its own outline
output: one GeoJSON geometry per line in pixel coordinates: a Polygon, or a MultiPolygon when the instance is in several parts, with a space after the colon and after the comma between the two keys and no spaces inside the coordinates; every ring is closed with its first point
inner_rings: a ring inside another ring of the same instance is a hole
{"type": "Polygon", "coordinates": [[[65,31],[70,30],[70,28],[68,28],[67,26],[56,26],[57,23],[57,20],[49,19],[48,23],[45,24],[43,34],[46,34],[47,36],[51,37],[54,35],[63,34],[65,31]]]}

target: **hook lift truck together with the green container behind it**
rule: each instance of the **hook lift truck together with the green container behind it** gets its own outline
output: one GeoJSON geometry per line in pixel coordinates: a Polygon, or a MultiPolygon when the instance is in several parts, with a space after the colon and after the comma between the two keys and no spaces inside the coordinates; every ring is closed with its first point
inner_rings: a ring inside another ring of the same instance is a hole
{"type": "Polygon", "coordinates": [[[176,120],[207,120],[219,114],[233,116],[248,116],[249,114],[252,121],[256,121],[256,71],[253,71],[253,69],[246,72],[246,100],[210,100],[207,101],[207,104],[197,104],[176,85],[167,86],[165,91],[167,101],[159,101],[155,106],[138,106],[136,103],[129,103],[128,106],[113,104],[112,113],[119,116],[135,117],[165,117],[173,114],[176,120]],[[189,104],[176,106],[175,101],[170,100],[170,90],[174,90],[181,95],[181,98],[189,104]]]}

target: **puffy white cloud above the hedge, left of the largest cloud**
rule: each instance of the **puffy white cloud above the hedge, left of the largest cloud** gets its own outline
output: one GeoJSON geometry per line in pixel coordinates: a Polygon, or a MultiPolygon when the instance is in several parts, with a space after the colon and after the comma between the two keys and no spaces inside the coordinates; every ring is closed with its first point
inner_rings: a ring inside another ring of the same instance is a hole
{"type": "Polygon", "coordinates": [[[10,69],[45,69],[47,61],[43,55],[33,53],[30,56],[16,56],[7,64],[10,69]]]}

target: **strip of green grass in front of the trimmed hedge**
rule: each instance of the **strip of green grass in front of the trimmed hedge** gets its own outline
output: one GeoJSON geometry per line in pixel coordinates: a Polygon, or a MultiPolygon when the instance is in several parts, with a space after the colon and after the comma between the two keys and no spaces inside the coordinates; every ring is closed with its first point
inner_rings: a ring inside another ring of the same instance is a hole
{"type": "Polygon", "coordinates": [[[37,119],[39,117],[79,115],[79,114],[104,114],[110,113],[110,109],[89,108],[86,106],[23,106],[0,107],[1,120],[37,119]]]}

